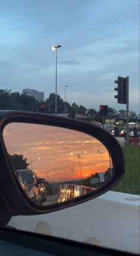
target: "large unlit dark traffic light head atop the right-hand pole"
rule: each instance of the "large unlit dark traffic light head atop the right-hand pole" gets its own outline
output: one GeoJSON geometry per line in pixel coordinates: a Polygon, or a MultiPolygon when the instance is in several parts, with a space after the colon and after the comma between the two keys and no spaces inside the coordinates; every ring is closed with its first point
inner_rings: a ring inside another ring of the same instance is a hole
{"type": "Polygon", "coordinates": [[[114,96],[117,99],[117,103],[126,104],[127,103],[127,90],[128,86],[126,83],[125,77],[117,77],[117,80],[114,81],[117,84],[117,87],[114,88],[114,91],[117,91],[117,95],[114,96]]]}

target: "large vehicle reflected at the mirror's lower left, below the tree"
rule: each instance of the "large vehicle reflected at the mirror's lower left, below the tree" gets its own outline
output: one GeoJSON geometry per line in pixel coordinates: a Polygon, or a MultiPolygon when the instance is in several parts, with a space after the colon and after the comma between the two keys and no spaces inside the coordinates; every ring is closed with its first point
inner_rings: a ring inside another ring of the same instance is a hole
{"type": "Polygon", "coordinates": [[[28,197],[36,203],[40,203],[42,200],[40,199],[39,184],[43,181],[41,181],[41,179],[37,179],[36,173],[33,172],[33,170],[21,169],[17,170],[17,172],[22,180],[27,184],[28,197]]]}

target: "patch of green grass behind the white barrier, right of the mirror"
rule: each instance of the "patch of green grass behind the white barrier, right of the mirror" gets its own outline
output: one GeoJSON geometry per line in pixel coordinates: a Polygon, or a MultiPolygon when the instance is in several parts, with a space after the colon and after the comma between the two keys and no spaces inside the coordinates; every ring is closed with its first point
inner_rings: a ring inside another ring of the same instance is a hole
{"type": "Polygon", "coordinates": [[[139,146],[123,147],[125,157],[125,175],[112,191],[128,194],[140,194],[140,148],[139,146]]]}

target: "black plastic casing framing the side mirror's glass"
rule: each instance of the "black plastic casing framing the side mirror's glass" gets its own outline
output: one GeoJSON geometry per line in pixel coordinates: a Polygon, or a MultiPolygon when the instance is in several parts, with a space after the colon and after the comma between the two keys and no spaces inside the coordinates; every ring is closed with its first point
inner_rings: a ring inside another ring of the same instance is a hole
{"type": "Polygon", "coordinates": [[[49,213],[52,211],[61,210],[66,207],[74,206],[79,203],[84,203],[85,201],[96,198],[111,189],[115,184],[117,184],[117,182],[125,173],[125,163],[123,159],[122,148],[120,147],[117,140],[111,134],[109,134],[109,132],[102,128],[96,127],[95,125],[77,121],[76,119],[61,118],[43,113],[14,110],[0,111],[0,151],[0,216],[3,216],[5,219],[17,215],[49,213]],[[46,207],[35,204],[26,196],[19,182],[17,181],[17,177],[8,158],[7,149],[5,148],[2,132],[4,127],[11,122],[52,125],[54,127],[69,128],[75,131],[84,132],[93,136],[94,138],[97,138],[97,140],[103,143],[107,150],[109,150],[110,156],[112,157],[114,168],[114,176],[112,180],[104,185],[103,188],[95,191],[94,195],[88,194],[81,196],[80,198],[74,198],[71,200],[71,202],[67,201],[67,203],[64,202],[46,207]],[[12,195],[10,191],[12,191],[12,195]]]}

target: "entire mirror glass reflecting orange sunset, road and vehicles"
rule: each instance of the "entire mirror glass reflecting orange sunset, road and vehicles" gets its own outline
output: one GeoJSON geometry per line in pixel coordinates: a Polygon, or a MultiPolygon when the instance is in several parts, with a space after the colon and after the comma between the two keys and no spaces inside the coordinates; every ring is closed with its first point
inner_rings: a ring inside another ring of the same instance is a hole
{"type": "Polygon", "coordinates": [[[107,148],[82,132],[11,123],[3,136],[21,187],[38,204],[47,206],[94,193],[113,177],[107,148]]]}

